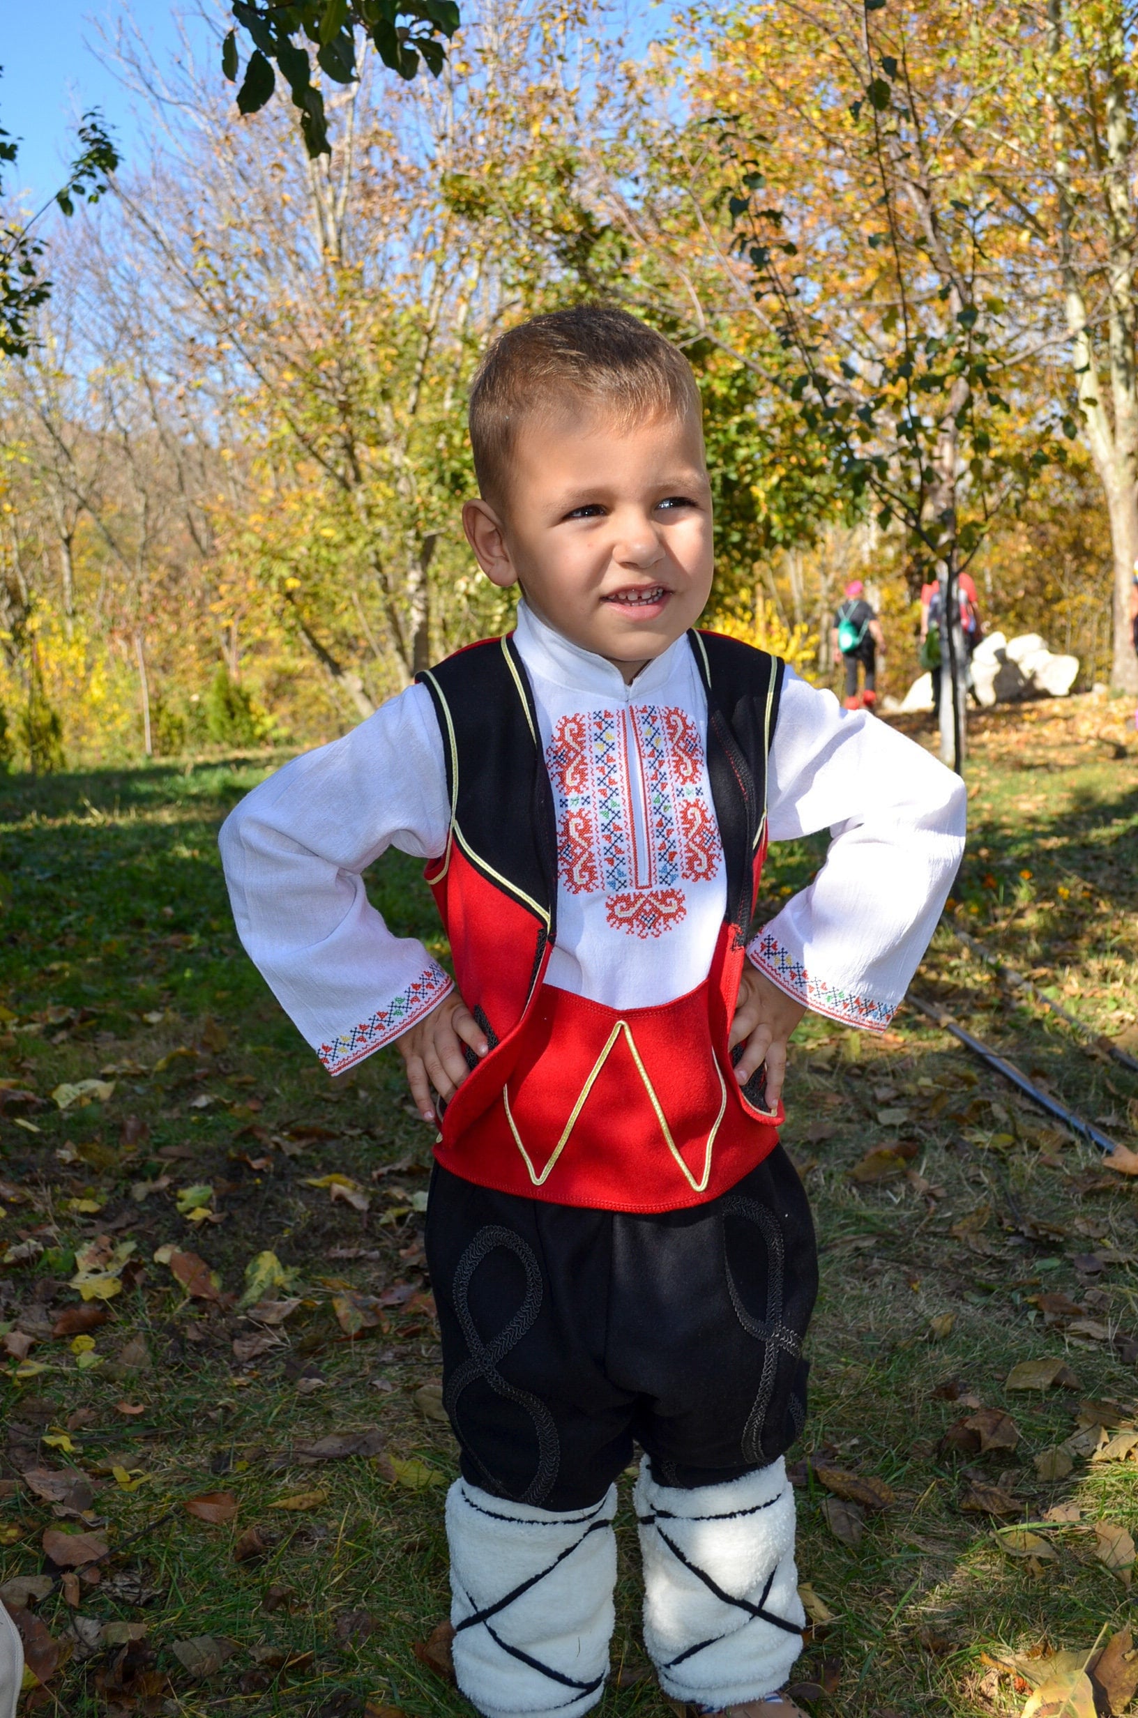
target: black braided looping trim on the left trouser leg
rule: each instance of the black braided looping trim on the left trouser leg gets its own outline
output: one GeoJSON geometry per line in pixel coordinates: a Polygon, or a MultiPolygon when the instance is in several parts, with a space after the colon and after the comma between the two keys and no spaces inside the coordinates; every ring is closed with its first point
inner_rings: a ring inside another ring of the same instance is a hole
{"type": "MultiPolygon", "coordinates": [[[[459,1266],[454,1273],[452,1295],[454,1311],[459,1325],[462,1326],[466,1347],[469,1349],[469,1359],[461,1366],[456,1366],[450,1374],[444,1395],[444,1407],[457,1426],[459,1397],[468,1385],[474,1383],[476,1378],[483,1378],[497,1395],[504,1397],[507,1402],[516,1402],[526,1410],[533,1421],[533,1429],[538,1440],[538,1469],[526,1490],[521,1493],[519,1502],[540,1505],[548,1496],[550,1488],[557,1479],[557,1469],[560,1467],[560,1440],[557,1436],[557,1426],[554,1423],[554,1416],[545,1404],[538,1400],[538,1397],[531,1395],[528,1390],[519,1390],[516,1385],[511,1385],[497,1369],[499,1361],[505,1359],[505,1356],[517,1347],[541,1309],[541,1266],[538,1264],[533,1247],[511,1228],[488,1223],[485,1228],[478,1230],[462,1252],[459,1266]],[[499,1247],[505,1247],[505,1251],[512,1252],[521,1263],[521,1268],[526,1273],[526,1292],[509,1325],[490,1342],[483,1342],[471,1314],[469,1290],[478,1266],[499,1247]]],[[[500,1479],[490,1472],[478,1452],[466,1447],[464,1450],[485,1476],[488,1490],[502,1495],[505,1486],[502,1486],[500,1479]]]]}

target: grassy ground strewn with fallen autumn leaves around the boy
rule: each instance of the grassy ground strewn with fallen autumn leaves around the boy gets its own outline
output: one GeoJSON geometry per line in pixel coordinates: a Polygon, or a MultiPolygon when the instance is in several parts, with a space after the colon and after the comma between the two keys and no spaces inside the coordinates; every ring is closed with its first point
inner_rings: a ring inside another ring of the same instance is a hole
{"type": "MultiPolygon", "coordinates": [[[[970,856],[913,990],[1138,1148],[1138,1075],[954,935],[1138,1055],[1129,718],[1105,698],[976,718],[970,856]]],[[[28,1711],[469,1711],[430,1644],[456,1472],[430,1137],[394,1053],[327,1079],[229,919],[217,826],[278,761],[0,783],[0,1572],[28,1711]]],[[[765,895],[822,850],[774,849],[765,895]]],[[[445,955],[416,864],[370,886],[445,955]]],[[[1018,1713],[1040,1666],[1114,1639],[1097,1697],[1123,1709],[1138,1182],[911,1007],[880,1038],[808,1017],[787,1117],[823,1278],[791,1457],[799,1699],[1018,1713]]],[[[665,1713],[627,1483],[619,1544],[600,1711],[665,1713]]]]}

